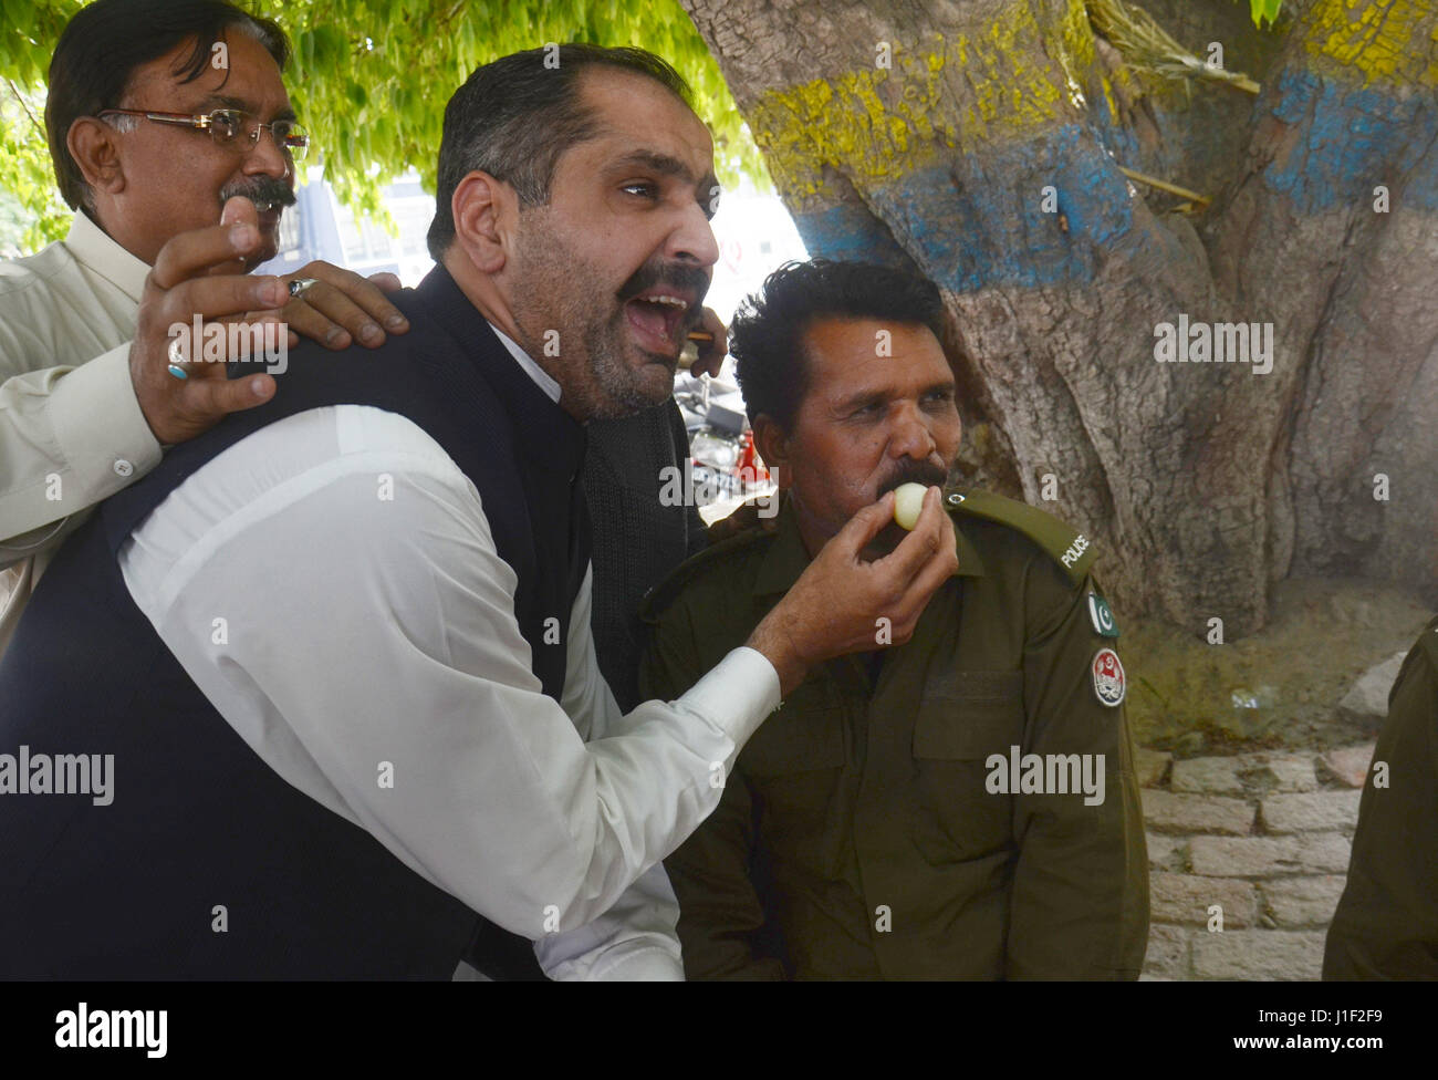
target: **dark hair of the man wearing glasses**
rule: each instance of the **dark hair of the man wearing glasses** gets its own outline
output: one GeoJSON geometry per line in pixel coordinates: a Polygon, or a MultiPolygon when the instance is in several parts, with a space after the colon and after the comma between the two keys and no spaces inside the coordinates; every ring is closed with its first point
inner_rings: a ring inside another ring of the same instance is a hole
{"type": "Polygon", "coordinates": [[[65,26],[50,58],[50,92],[45,102],[45,134],[50,142],[55,180],[70,207],[89,201],[85,174],[70,157],[66,139],[81,116],[119,106],[135,69],[175,46],[194,47],[175,65],[184,82],[210,66],[210,47],[239,26],[252,35],[283,69],[289,39],[279,26],[224,0],[96,0],[65,26]]]}

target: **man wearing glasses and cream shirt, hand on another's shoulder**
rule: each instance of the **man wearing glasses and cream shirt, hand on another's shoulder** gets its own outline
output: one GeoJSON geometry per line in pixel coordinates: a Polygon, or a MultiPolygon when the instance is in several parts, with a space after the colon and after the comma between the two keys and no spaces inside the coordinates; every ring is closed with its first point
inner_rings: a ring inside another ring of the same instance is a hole
{"type": "MultiPolygon", "coordinates": [[[[283,322],[344,348],[407,322],[328,263],[246,276],[278,247],[309,145],[280,29],[220,0],[99,0],[66,26],[45,119],[69,236],[0,263],[0,654],[60,542],[161,447],[275,381],[171,351],[175,324],[283,322]]],[[[388,280],[385,280],[388,278],[388,280]]]]}

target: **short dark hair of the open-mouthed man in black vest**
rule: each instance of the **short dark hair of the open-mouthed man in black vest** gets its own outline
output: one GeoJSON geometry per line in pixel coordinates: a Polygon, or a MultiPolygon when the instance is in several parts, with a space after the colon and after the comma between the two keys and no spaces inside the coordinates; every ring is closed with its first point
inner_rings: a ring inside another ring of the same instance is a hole
{"type": "Polygon", "coordinates": [[[693,108],[689,83],[654,53],[571,42],[526,49],[476,68],[444,106],[430,255],[437,260],[454,239],[454,188],[479,170],[512,186],[521,206],[549,201],[564,151],[592,138],[594,112],[580,98],[588,68],[644,75],[693,108]]]}

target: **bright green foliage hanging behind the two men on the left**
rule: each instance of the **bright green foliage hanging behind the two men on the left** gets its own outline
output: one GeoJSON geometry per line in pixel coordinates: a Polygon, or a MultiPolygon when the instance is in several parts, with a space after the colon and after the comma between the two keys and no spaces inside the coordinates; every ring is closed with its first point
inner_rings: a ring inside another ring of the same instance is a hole
{"type": "MultiPolygon", "coordinates": [[[[69,221],[55,190],[43,129],[30,116],[43,114],[50,52],[85,3],[0,0],[0,79],[23,95],[22,105],[0,81],[0,194],[9,191],[12,206],[20,207],[9,232],[0,213],[0,249],[12,255],[22,236],[24,247],[35,250],[63,236],[69,221]]],[[[338,198],[371,216],[383,217],[384,186],[407,168],[416,168],[426,188],[434,190],[444,104],[476,65],[551,40],[641,42],[659,52],[695,88],[699,115],[713,131],[720,181],[732,184],[746,173],[768,187],[758,147],[742,127],[719,66],[677,0],[643,6],[615,0],[285,0],[260,7],[278,12],[289,33],[293,58],[285,83],[311,129],[325,177],[338,198]],[[374,40],[372,50],[364,46],[365,36],[374,40]],[[357,132],[355,125],[365,129],[357,132]]]]}

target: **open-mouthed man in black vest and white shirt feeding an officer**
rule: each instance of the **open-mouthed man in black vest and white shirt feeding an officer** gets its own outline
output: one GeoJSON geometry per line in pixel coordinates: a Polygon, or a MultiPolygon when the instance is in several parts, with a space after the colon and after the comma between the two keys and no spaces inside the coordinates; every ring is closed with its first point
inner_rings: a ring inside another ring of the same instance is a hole
{"type": "Polygon", "coordinates": [[[938,490],[860,558],[886,496],[692,690],[620,715],[582,424],[670,393],[713,190],[649,53],[470,76],[440,266],[395,296],[411,331],[302,345],[272,403],[106,502],[36,591],[0,664],[0,975],[444,978],[495,923],[552,978],[680,976],[659,860],[808,667],[880,620],[902,643],[955,569],[938,490]]]}

